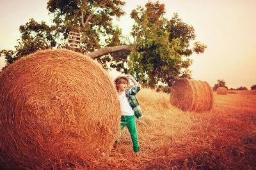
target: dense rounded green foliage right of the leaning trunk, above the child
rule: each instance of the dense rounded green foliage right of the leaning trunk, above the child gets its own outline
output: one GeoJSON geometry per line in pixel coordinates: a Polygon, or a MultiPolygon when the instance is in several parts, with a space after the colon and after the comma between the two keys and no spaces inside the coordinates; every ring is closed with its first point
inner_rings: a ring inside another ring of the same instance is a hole
{"type": "Polygon", "coordinates": [[[177,13],[168,21],[164,13],[164,4],[159,2],[148,2],[145,8],[140,6],[131,13],[136,22],[132,36],[137,39],[129,55],[129,73],[150,87],[159,81],[172,86],[177,78],[189,78],[192,60],[188,56],[204,52],[206,48],[199,42],[189,48],[195,39],[193,26],[182,22],[177,13]]]}

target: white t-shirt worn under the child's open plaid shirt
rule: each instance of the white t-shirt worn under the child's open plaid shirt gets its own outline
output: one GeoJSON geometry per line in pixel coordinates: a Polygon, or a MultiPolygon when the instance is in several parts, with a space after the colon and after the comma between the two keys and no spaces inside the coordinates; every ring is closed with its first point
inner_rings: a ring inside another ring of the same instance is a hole
{"type": "Polygon", "coordinates": [[[128,97],[125,96],[125,90],[118,97],[121,104],[122,116],[133,116],[134,112],[129,104],[128,97]]]}

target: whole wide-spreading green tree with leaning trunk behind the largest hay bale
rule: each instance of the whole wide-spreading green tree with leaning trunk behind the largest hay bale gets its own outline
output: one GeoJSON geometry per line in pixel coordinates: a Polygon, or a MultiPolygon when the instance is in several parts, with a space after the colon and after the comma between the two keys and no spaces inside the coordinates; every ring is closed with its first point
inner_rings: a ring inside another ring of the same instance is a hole
{"type": "Polygon", "coordinates": [[[113,26],[113,17],[124,15],[119,0],[49,0],[47,9],[54,15],[54,25],[40,24],[33,18],[20,26],[19,45],[13,59],[38,49],[65,46],[70,31],[80,31],[82,49],[103,67],[113,67],[122,73],[131,73],[145,85],[155,87],[161,81],[172,85],[180,77],[190,78],[188,67],[194,53],[203,53],[206,46],[195,40],[193,26],[179,18],[177,13],[164,18],[164,4],[148,3],[131,13],[135,24],[131,35],[134,43],[122,38],[122,31],[113,26]]]}

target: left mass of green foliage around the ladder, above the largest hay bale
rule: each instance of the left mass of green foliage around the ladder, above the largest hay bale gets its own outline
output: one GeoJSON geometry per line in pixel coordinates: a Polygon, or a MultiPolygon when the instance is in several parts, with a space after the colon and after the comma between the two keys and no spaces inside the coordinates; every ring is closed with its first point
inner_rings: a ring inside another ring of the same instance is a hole
{"type": "MultiPolygon", "coordinates": [[[[13,59],[19,59],[40,49],[64,47],[69,31],[81,32],[83,53],[93,52],[102,46],[122,45],[122,32],[113,26],[112,20],[124,15],[124,4],[118,0],[49,0],[47,10],[54,16],[54,25],[38,23],[33,18],[25,25],[20,25],[21,38],[18,39],[19,45],[15,46],[17,53],[13,59]],[[83,26],[82,22],[86,24],[83,26]]],[[[124,61],[128,54],[120,52],[118,57],[106,55],[98,60],[106,67],[107,62],[115,63],[120,58],[124,61]]]]}

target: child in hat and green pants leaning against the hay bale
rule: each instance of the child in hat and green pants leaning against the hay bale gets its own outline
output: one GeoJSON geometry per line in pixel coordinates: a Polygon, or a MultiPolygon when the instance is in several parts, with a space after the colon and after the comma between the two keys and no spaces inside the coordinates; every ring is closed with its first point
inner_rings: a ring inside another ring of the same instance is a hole
{"type": "MultiPolygon", "coordinates": [[[[138,156],[139,141],[138,134],[136,130],[136,118],[142,118],[142,112],[140,105],[136,99],[136,94],[141,88],[141,85],[130,75],[127,76],[117,76],[114,80],[116,85],[116,90],[121,104],[122,117],[121,117],[121,132],[124,127],[127,126],[132,139],[133,151],[136,156],[138,156]],[[132,89],[127,89],[130,85],[129,79],[134,83],[135,87],[132,89]]],[[[117,149],[118,139],[115,141],[114,149],[117,149]]]]}

